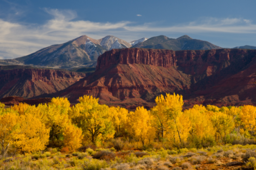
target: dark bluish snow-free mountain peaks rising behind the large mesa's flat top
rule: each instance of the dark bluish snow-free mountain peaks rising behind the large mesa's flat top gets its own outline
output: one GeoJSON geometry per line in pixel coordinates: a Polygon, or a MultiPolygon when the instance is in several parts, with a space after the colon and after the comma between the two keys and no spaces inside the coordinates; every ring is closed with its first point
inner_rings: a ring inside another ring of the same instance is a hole
{"type": "Polygon", "coordinates": [[[168,50],[209,50],[219,49],[221,47],[213,45],[210,42],[195,40],[184,35],[177,39],[169,38],[163,35],[151,37],[148,40],[140,42],[132,48],[151,48],[151,49],[168,49],[168,50]]]}

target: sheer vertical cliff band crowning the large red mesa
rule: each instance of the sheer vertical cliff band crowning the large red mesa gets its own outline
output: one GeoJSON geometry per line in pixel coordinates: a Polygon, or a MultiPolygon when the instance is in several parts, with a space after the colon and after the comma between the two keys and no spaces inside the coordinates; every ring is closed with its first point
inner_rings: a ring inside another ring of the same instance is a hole
{"type": "Polygon", "coordinates": [[[205,63],[221,63],[232,60],[233,56],[243,57],[245,49],[212,49],[172,51],[162,49],[123,48],[106,51],[99,56],[96,71],[115,64],[145,64],[170,68],[189,67],[205,63]]]}

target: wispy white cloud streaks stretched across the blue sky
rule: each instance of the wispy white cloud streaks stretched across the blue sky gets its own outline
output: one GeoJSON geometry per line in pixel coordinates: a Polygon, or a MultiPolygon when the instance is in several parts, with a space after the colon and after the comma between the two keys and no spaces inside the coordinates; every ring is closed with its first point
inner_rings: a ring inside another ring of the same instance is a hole
{"type": "Polygon", "coordinates": [[[203,18],[190,23],[159,27],[154,23],[134,25],[130,21],[96,23],[77,20],[75,11],[44,8],[52,15],[44,25],[25,25],[0,19],[0,58],[11,59],[35,52],[53,44],[72,40],[81,35],[100,39],[112,34],[127,41],[139,39],[140,34],[166,33],[235,33],[256,34],[256,25],[243,18],[203,18]],[[138,35],[138,37],[136,37],[138,35]]]}

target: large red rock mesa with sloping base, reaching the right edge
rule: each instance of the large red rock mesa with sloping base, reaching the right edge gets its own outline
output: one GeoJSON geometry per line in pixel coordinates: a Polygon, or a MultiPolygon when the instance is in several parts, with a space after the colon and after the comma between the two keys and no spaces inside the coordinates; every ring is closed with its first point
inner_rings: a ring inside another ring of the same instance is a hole
{"type": "Polygon", "coordinates": [[[79,96],[101,103],[152,107],[157,95],[182,94],[193,104],[255,104],[256,50],[171,51],[115,49],[98,58],[96,72],[52,96],[78,102],[79,96]]]}

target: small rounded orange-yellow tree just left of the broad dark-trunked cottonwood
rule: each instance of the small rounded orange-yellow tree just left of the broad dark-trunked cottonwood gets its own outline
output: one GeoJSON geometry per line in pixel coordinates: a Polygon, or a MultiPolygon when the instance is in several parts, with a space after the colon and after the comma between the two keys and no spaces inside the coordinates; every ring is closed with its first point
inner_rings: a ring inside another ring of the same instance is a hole
{"type": "Polygon", "coordinates": [[[64,146],[68,147],[70,151],[75,151],[81,147],[82,130],[75,125],[69,124],[64,129],[64,146]]]}

